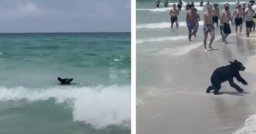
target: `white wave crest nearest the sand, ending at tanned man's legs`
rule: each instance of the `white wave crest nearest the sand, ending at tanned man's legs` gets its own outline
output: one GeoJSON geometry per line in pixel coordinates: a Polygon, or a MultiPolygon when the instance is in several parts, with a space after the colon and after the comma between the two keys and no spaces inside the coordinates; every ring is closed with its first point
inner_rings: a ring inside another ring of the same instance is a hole
{"type": "Polygon", "coordinates": [[[169,37],[158,37],[158,38],[145,38],[145,39],[137,39],[136,44],[145,43],[145,42],[154,42],[154,41],[177,41],[177,40],[186,40],[188,36],[180,35],[180,36],[169,36],[169,37]]]}

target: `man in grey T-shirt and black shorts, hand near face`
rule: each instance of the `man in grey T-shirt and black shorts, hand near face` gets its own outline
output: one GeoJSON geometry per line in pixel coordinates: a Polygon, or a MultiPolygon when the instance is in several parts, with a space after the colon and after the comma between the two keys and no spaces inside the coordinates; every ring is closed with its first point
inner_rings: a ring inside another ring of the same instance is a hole
{"type": "Polygon", "coordinates": [[[252,19],[255,11],[252,10],[252,3],[247,5],[247,8],[244,10],[245,16],[245,25],[246,25],[246,37],[249,37],[250,31],[252,31],[252,19]]]}

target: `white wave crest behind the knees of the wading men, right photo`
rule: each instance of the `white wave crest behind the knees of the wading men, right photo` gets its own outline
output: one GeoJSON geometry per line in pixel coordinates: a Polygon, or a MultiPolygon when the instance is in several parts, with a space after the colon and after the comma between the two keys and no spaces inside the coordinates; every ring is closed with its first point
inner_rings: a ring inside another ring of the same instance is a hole
{"type": "MultiPolygon", "coordinates": [[[[178,18],[179,19],[179,18],[178,18]]],[[[199,21],[199,25],[204,25],[204,21],[199,21]]],[[[179,27],[186,27],[186,21],[178,22],[179,27]]],[[[173,24],[175,27],[175,23],[173,24]]],[[[136,24],[137,29],[158,29],[158,28],[170,28],[171,22],[161,22],[161,23],[149,23],[149,24],[136,24]]]]}

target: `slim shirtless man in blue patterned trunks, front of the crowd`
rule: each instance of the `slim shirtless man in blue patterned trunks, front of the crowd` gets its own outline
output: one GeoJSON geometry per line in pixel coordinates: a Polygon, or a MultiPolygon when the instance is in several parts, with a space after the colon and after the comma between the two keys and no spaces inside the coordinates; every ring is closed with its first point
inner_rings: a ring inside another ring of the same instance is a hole
{"type": "Polygon", "coordinates": [[[211,34],[212,38],[210,39],[209,48],[212,50],[212,42],[214,40],[215,34],[214,34],[214,25],[212,20],[212,6],[208,5],[207,12],[204,13],[204,50],[207,51],[206,48],[206,40],[208,37],[208,33],[211,34]]]}

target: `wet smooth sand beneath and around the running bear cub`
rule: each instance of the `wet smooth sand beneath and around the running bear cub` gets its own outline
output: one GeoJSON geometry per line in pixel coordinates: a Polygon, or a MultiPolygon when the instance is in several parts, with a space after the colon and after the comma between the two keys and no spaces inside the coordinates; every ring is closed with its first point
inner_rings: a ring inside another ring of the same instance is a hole
{"type": "Polygon", "coordinates": [[[155,86],[161,92],[137,106],[137,134],[231,134],[242,128],[248,115],[256,113],[256,41],[244,36],[230,36],[226,45],[213,42],[219,50],[205,52],[201,45],[179,57],[157,56],[156,81],[171,79],[155,86]],[[225,82],[222,95],[205,93],[212,72],[235,59],[246,67],[240,75],[248,86],[234,78],[245,92],[225,82]]]}

